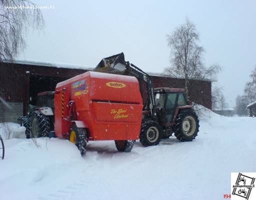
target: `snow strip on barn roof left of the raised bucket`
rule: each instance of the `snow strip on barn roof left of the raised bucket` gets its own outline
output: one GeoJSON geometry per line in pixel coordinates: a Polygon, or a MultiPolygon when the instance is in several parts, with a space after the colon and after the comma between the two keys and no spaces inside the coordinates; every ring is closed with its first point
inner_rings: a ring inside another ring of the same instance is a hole
{"type": "Polygon", "coordinates": [[[76,68],[76,69],[86,69],[86,70],[92,70],[93,68],[84,66],[84,65],[78,65],[78,64],[66,64],[66,63],[52,63],[52,62],[43,62],[43,61],[37,61],[37,60],[14,60],[14,61],[8,61],[10,63],[17,63],[17,64],[27,64],[27,65],[39,65],[39,66],[50,66],[50,67],[57,67],[57,68],[76,68]]]}

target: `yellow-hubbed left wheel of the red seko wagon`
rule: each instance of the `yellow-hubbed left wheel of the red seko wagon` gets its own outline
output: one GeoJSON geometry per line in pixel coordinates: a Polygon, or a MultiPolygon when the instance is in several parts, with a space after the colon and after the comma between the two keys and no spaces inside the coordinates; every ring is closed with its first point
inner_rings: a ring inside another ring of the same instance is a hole
{"type": "Polygon", "coordinates": [[[85,128],[78,128],[76,125],[72,125],[72,127],[69,130],[69,136],[68,136],[69,141],[74,143],[78,150],[80,151],[81,155],[83,155],[86,152],[86,139],[87,139],[87,133],[85,128]],[[75,140],[71,139],[72,136],[72,131],[75,134],[75,140]]]}

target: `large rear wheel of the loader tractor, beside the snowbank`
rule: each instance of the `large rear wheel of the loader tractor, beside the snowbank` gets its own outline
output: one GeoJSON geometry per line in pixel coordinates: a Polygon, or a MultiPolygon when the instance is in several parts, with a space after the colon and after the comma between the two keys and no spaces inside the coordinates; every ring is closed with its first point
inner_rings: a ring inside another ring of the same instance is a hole
{"type": "Polygon", "coordinates": [[[192,109],[181,110],[174,123],[174,135],[180,141],[192,141],[199,131],[199,120],[192,109]]]}

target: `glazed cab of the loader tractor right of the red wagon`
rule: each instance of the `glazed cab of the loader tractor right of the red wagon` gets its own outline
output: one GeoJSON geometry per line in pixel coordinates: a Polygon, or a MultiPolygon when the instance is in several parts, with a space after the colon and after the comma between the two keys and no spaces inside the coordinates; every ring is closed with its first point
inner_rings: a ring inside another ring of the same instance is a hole
{"type": "Polygon", "coordinates": [[[154,88],[154,96],[161,126],[166,126],[175,120],[174,116],[177,107],[189,106],[184,89],[169,87],[154,88]]]}

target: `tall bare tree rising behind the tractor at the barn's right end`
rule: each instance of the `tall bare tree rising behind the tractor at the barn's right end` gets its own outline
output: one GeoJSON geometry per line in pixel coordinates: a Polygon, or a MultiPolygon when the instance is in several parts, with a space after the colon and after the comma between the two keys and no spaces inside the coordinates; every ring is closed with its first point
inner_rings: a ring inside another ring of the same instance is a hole
{"type": "Polygon", "coordinates": [[[185,91],[188,96],[188,86],[191,79],[206,80],[216,76],[220,66],[214,64],[205,67],[202,63],[204,49],[199,46],[199,35],[195,25],[186,18],[181,26],[172,34],[167,35],[167,43],[170,47],[171,66],[164,69],[164,73],[185,79],[185,91]]]}

